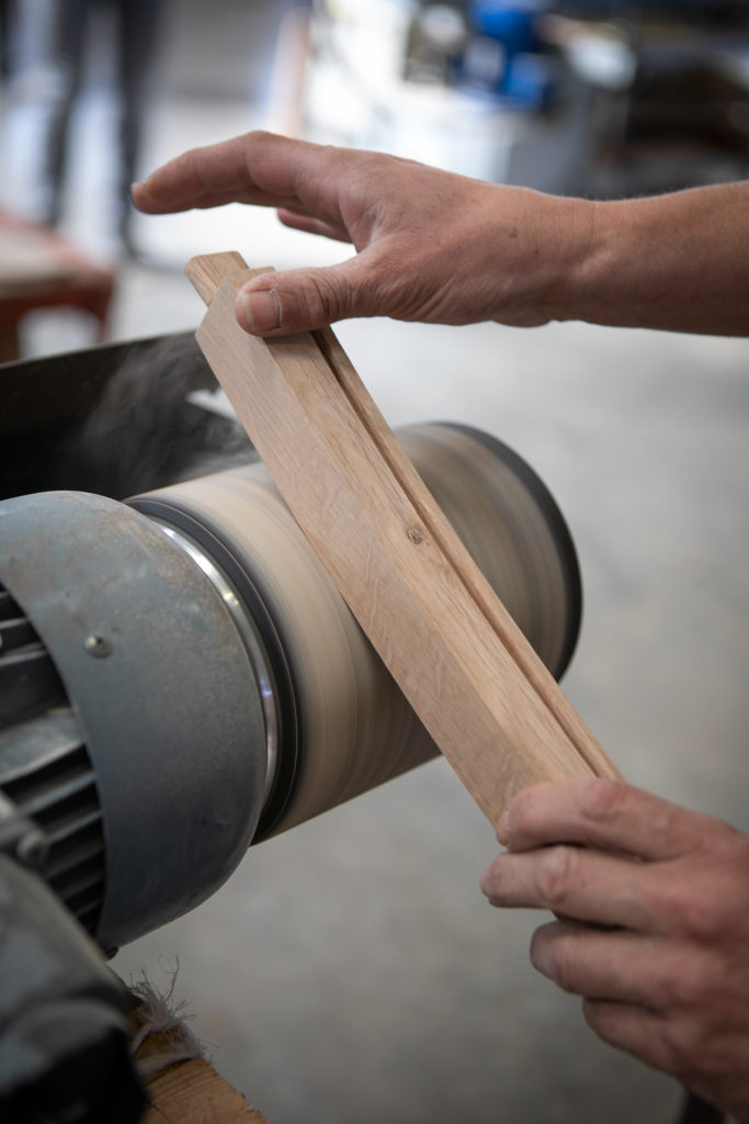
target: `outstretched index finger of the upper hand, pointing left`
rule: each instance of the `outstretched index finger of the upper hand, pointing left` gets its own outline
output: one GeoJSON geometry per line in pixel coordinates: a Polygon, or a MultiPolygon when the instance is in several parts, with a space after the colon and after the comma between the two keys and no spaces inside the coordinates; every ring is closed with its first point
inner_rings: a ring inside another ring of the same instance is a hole
{"type": "Polygon", "coordinates": [[[321,152],[303,140],[248,133],[168,161],[134,185],[133,201],[152,215],[227,202],[293,207],[300,171],[321,152]]]}

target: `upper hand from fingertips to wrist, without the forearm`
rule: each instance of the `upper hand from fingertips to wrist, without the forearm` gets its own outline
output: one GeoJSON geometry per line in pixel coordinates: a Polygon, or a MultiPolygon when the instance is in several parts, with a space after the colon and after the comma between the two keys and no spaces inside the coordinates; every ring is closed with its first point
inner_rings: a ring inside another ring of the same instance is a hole
{"type": "Polygon", "coordinates": [[[150,214],[227,202],[353,243],[322,269],[266,273],[238,293],[248,332],[285,335],[351,316],[530,326],[554,317],[585,243],[588,205],[377,153],[248,133],[177,156],[133,189],[150,214]]]}

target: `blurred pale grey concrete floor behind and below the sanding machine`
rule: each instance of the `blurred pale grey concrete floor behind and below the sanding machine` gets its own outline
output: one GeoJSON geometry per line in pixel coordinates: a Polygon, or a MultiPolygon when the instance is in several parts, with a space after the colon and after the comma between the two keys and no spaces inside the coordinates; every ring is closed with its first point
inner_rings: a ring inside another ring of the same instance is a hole
{"type": "MultiPolygon", "coordinates": [[[[85,138],[103,117],[94,98],[67,216],[94,251],[107,236],[85,138]]],[[[246,100],[166,93],[148,160],[255,124],[246,100]]],[[[136,229],[174,265],[203,250],[278,268],[342,253],[236,208],[136,229]]],[[[176,270],[124,266],[115,337],[200,315],[176,270]]],[[[61,351],[89,330],[39,317],[27,344],[61,351]]],[[[482,426],[541,474],[583,571],[574,705],[631,781],[749,830],[749,345],[578,324],[371,320],[339,336],[391,424],[482,426]]],[[[487,907],[478,879],[494,853],[433,762],[254,849],[211,901],[113,967],[166,987],[179,964],[175,997],[270,1124],[674,1121],[678,1087],[600,1044],[577,1000],[530,968],[539,918],[487,907]]]]}

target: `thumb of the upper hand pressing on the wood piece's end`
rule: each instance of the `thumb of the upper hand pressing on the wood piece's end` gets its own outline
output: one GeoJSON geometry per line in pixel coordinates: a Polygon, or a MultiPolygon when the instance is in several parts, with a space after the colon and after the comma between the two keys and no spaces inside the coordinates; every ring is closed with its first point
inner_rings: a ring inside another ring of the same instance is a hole
{"type": "MultiPolygon", "coordinates": [[[[325,269],[261,273],[237,293],[237,320],[255,336],[286,336],[372,315],[356,259],[325,269]]],[[[369,301],[371,302],[371,301],[369,301]]]]}

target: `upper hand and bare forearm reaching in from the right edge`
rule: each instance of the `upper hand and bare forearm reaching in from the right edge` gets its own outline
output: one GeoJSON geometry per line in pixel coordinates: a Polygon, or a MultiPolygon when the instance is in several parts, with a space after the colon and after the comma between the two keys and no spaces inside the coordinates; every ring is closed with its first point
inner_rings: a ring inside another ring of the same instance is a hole
{"type": "Polygon", "coordinates": [[[257,335],[350,316],[749,333],[749,182],[591,202],[248,133],[170,161],[133,199],[153,215],[274,207],[286,226],[354,245],[337,265],[245,285],[237,319],[257,335]]]}

